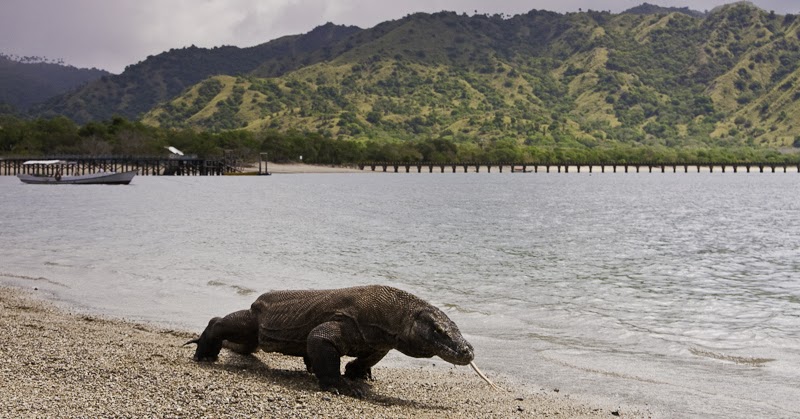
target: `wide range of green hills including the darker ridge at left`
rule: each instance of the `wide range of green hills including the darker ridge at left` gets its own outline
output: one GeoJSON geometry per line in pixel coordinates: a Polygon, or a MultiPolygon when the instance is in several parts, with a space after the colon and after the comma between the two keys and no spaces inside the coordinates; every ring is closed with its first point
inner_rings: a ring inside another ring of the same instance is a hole
{"type": "Polygon", "coordinates": [[[800,19],[746,2],[707,14],[648,6],[420,13],[251,49],[171,51],[49,111],[130,117],[164,101],[145,123],[494,145],[798,143],[800,19]]]}

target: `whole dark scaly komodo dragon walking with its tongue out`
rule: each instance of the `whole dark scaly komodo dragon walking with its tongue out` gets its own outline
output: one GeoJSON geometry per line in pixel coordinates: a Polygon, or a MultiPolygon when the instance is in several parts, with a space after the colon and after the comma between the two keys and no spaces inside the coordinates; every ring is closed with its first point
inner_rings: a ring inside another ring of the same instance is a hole
{"type": "MultiPolygon", "coordinates": [[[[349,379],[371,380],[372,366],[390,350],[415,358],[438,356],[467,365],[495,387],[472,362],[475,355],[441,310],[397,288],[368,285],[334,290],[272,291],[249,310],[214,317],[196,343],[194,360],[213,362],[224,346],[236,353],[258,349],[302,356],[323,390],[363,392],[340,375],[340,357],[349,379]]],[[[496,387],[495,387],[496,388],[496,387]]]]}

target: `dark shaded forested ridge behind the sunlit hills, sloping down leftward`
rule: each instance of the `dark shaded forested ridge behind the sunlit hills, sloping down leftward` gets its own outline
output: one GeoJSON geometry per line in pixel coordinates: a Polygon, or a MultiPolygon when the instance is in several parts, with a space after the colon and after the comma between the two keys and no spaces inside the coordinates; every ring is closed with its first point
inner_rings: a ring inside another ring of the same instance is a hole
{"type": "MultiPolygon", "coordinates": [[[[219,74],[247,74],[264,62],[277,76],[313,64],[315,53],[358,31],[356,27],[320,26],[305,35],[286,36],[250,48],[223,46],[173,49],[130,65],[120,75],[102,77],[77,91],[48,100],[34,114],[64,115],[84,123],[114,115],[138,118],[159,102],[203,79],[219,74]]],[[[323,59],[324,54],[319,56],[323,59]]]]}

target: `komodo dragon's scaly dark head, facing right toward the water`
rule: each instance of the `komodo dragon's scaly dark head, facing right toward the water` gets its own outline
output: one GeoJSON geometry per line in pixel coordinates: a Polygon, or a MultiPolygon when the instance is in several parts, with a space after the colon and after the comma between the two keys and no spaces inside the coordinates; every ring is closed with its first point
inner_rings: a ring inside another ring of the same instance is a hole
{"type": "Polygon", "coordinates": [[[438,308],[421,308],[413,319],[405,336],[398,339],[400,352],[415,358],[438,356],[456,365],[467,365],[475,358],[458,326],[438,308]]]}

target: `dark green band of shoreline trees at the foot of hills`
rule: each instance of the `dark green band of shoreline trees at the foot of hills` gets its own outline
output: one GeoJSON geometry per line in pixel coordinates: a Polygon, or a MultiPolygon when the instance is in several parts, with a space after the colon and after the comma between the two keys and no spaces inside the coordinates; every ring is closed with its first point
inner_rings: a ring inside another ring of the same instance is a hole
{"type": "Polygon", "coordinates": [[[268,153],[273,162],[312,164],[365,162],[513,162],[513,163],[800,163],[800,153],[758,147],[666,147],[662,145],[574,142],[525,144],[513,138],[411,140],[337,139],[319,132],[169,129],[123,117],[78,125],[65,117],[25,120],[0,115],[1,157],[162,156],[168,146],[200,158],[226,153],[257,161],[268,153]],[[301,157],[302,156],[302,157],[301,157]]]}

